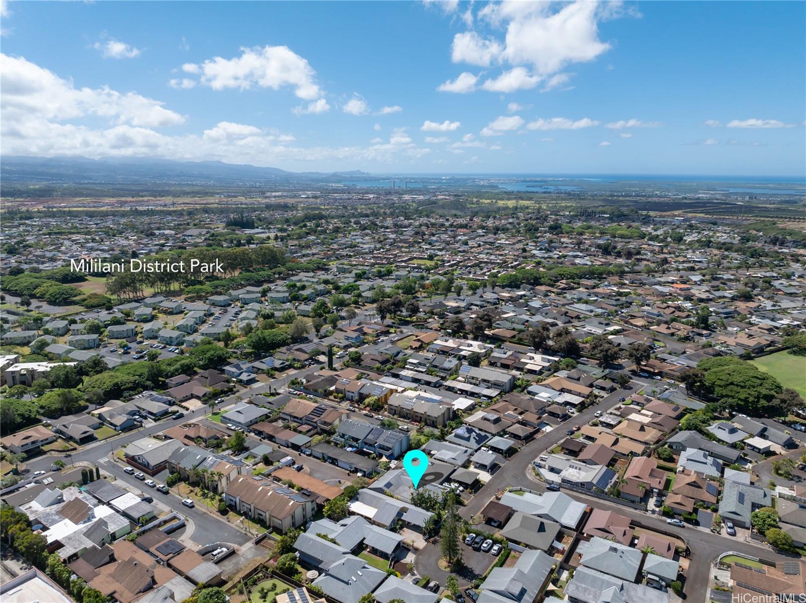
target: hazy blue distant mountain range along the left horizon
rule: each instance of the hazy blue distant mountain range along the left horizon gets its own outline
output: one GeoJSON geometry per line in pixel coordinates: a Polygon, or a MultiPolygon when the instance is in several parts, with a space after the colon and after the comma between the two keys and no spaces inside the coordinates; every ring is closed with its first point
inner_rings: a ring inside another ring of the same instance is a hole
{"type": "Polygon", "coordinates": [[[225,164],[222,161],[147,158],[94,160],[86,157],[26,156],[6,156],[0,160],[0,178],[6,183],[261,185],[368,175],[360,170],[334,173],[286,172],[280,168],[225,164]]]}

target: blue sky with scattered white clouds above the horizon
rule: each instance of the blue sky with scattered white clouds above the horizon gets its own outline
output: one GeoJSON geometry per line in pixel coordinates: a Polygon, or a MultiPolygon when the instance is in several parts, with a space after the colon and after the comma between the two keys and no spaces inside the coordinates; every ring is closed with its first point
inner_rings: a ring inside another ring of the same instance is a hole
{"type": "Polygon", "coordinates": [[[4,155],[803,177],[804,2],[2,2],[4,155]]]}

